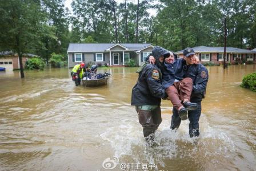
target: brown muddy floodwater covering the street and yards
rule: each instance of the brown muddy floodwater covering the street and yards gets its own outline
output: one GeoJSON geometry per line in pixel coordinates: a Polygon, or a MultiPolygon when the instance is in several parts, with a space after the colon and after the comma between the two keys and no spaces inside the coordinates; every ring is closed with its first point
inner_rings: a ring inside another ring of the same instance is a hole
{"type": "Polygon", "coordinates": [[[112,77],[95,88],[75,87],[67,68],[1,72],[0,170],[256,170],[256,93],[239,87],[256,65],[208,67],[198,139],[187,120],[169,129],[162,101],[153,149],[130,105],[136,70],[99,68],[112,77]]]}

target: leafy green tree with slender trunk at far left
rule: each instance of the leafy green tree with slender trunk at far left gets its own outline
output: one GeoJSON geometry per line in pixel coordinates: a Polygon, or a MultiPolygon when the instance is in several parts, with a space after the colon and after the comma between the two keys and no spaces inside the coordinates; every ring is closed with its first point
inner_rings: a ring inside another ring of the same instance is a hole
{"type": "Polygon", "coordinates": [[[22,56],[41,45],[38,35],[45,28],[40,1],[0,0],[0,11],[0,46],[18,54],[24,78],[22,56]]]}

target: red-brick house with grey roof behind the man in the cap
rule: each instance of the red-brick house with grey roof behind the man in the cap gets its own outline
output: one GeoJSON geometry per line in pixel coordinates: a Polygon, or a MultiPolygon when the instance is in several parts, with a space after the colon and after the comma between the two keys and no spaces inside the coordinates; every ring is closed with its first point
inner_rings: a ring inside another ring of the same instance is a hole
{"type": "MultiPolygon", "coordinates": [[[[202,62],[223,63],[224,47],[207,47],[197,46],[193,47],[195,54],[202,62]]],[[[175,52],[179,57],[183,56],[183,50],[175,52]]],[[[226,47],[226,61],[235,63],[239,61],[253,61],[256,63],[256,52],[245,50],[242,48],[226,47]]]]}

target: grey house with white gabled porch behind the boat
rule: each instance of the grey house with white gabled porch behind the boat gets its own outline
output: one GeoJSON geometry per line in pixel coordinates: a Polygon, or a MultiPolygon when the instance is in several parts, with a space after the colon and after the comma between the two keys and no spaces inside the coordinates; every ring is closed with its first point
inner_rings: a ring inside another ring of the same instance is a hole
{"type": "Polygon", "coordinates": [[[150,43],[70,43],[67,55],[69,67],[81,62],[123,67],[130,59],[140,66],[152,50],[150,43]]]}

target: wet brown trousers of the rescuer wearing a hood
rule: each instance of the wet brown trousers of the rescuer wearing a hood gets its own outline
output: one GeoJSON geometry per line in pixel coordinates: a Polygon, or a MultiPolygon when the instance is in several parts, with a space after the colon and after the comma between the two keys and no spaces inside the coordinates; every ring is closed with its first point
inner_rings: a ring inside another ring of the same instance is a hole
{"type": "Polygon", "coordinates": [[[144,137],[149,136],[151,133],[155,133],[162,122],[161,108],[157,107],[152,111],[141,110],[138,109],[138,107],[135,107],[135,109],[138,113],[139,123],[143,127],[144,137]]]}

